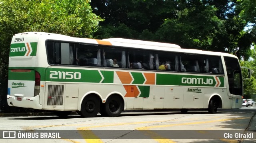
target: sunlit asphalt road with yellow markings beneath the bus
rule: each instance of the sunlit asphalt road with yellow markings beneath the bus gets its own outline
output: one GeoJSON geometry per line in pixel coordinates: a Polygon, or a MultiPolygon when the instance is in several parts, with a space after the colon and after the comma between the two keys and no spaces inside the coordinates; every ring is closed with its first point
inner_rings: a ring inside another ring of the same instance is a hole
{"type": "Polygon", "coordinates": [[[247,143],[256,142],[255,115],[256,106],[220,109],[217,114],[204,110],[190,110],[187,114],[168,110],[124,112],[118,117],[98,114],[95,118],[81,118],[76,114],[65,119],[56,116],[0,117],[0,142],[247,143]],[[14,132],[16,139],[8,138],[14,137],[14,132]]]}

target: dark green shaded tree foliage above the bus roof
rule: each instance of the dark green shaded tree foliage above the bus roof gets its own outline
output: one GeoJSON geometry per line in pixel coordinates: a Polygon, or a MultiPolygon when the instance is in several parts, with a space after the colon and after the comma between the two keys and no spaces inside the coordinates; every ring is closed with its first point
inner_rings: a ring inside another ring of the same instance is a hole
{"type": "Polygon", "coordinates": [[[250,57],[252,33],[235,0],[92,0],[104,18],[95,37],[122,37],[250,57]],[[124,29],[122,29],[124,28],[124,29]],[[124,30],[124,31],[122,31],[124,30]]]}

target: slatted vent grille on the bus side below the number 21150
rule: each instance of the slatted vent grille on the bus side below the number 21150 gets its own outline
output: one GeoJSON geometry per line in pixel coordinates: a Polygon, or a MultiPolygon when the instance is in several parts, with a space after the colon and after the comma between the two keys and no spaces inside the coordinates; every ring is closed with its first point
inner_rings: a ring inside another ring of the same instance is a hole
{"type": "Polygon", "coordinates": [[[63,105],[64,85],[48,85],[47,105],[63,105]]]}

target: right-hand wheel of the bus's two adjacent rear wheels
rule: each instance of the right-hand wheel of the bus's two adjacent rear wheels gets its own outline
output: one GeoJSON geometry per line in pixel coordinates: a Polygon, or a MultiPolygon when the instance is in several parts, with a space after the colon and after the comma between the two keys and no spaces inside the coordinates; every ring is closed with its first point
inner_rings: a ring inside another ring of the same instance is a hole
{"type": "Polygon", "coordinates": [[[119,116],[123,109],[124,109],[124,104],[120,96],[118,95],[112,95],[110,96],[106,103],[103,104],[104,108],[102,108],[102,113],[105,114],[106,116],[110,117],[117,117],[119,116]]]}

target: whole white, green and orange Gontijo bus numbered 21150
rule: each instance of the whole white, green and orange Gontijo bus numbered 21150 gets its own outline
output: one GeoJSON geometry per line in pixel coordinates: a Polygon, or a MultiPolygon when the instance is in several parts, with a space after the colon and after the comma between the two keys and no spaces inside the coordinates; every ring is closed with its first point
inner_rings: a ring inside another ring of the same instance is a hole
{"type": "Polygon", "coordinates": [[[242,107],[238,58],[131,39],[84,39],[54,33],[13,36],[9,106],[68,116],[119,116],[123,110],[242,107]]]}

